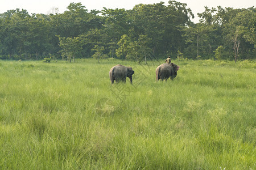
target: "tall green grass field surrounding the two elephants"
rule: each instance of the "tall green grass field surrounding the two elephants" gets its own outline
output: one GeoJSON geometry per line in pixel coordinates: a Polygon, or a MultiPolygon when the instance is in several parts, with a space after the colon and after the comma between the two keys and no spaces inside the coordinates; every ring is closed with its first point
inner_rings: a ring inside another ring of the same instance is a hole
{"type": "Polygon", "coordinates": [[[173,62],[0,60],[0,169],[256,169],[256,63],[173,62]]]}

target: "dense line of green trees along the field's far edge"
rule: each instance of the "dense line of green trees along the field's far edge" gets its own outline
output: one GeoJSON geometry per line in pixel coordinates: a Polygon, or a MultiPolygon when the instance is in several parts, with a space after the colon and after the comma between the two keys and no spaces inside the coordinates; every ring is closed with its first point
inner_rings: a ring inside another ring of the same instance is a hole
{"type": "Polygon", "coordinates": [[[169,1],[132,10],[86,10],[70,3],[63,14],[0,14],[0,58],[255,59],[255,8],[205,7],[199,23],[185,3],[169,1]]]}

